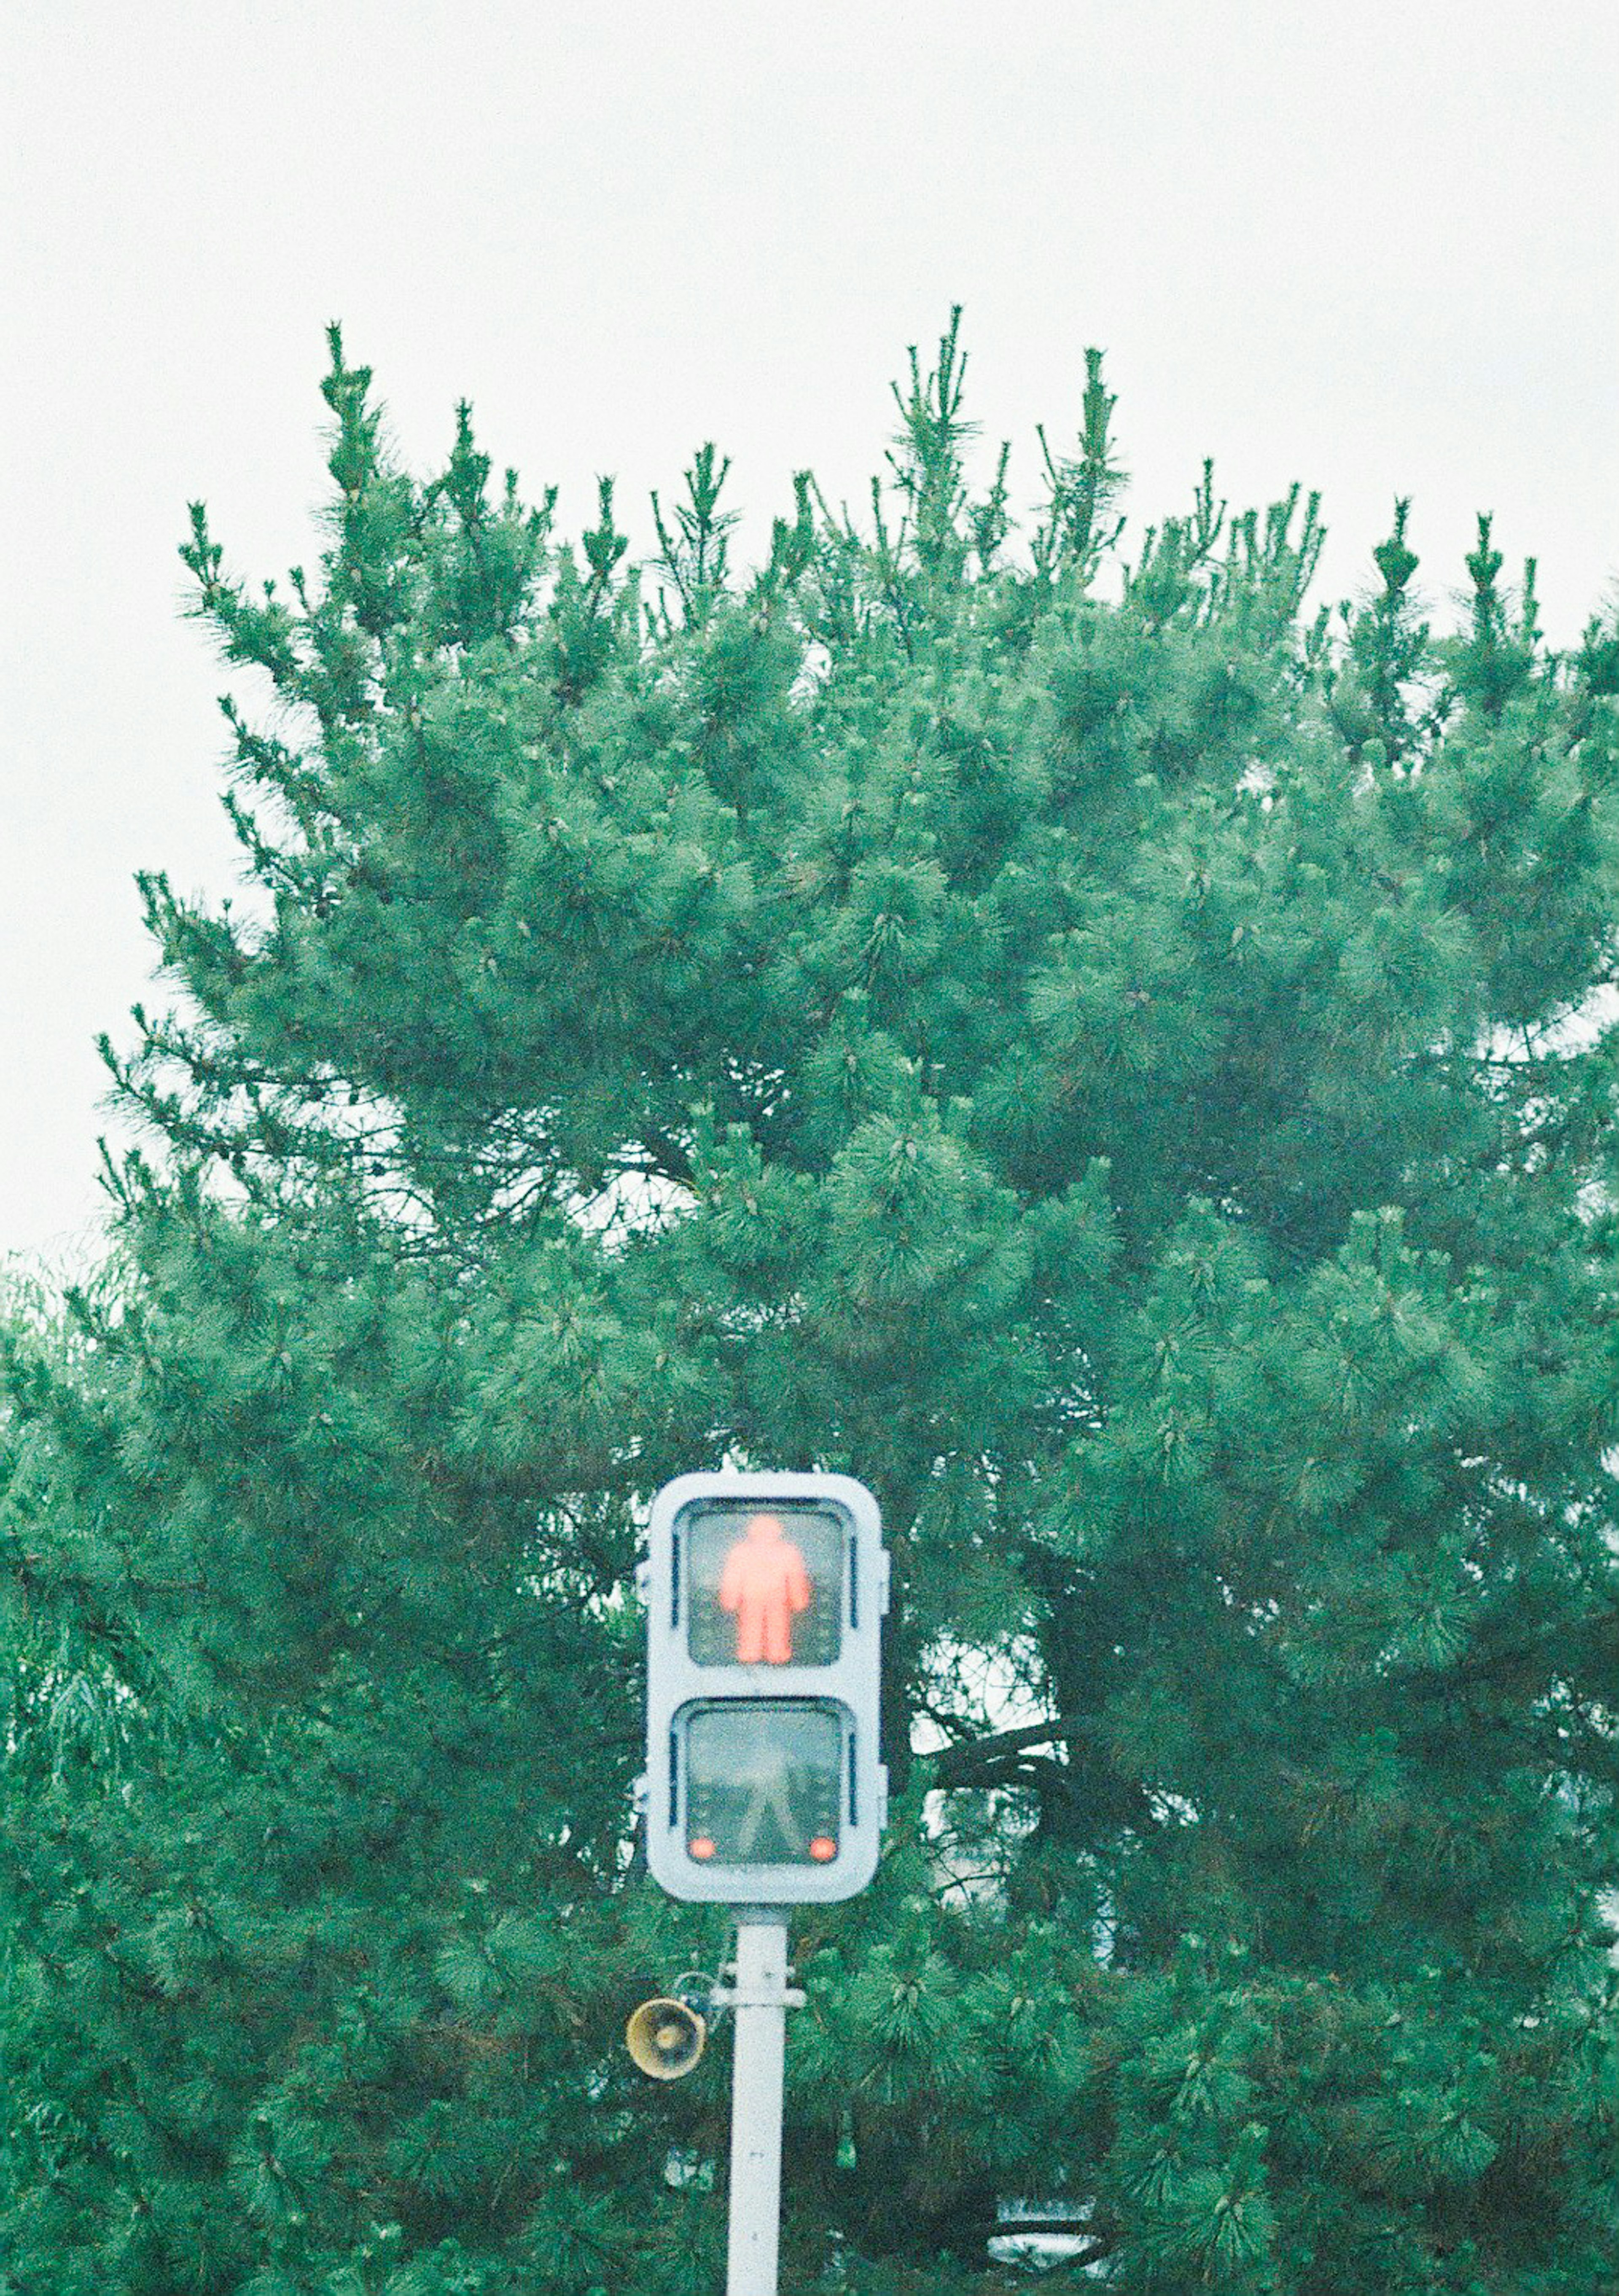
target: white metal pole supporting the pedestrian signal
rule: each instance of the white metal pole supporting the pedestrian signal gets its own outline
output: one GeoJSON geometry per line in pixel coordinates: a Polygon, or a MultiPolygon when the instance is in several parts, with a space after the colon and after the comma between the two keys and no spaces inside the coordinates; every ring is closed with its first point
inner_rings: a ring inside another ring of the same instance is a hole
{"type": "Polygon", "coordinates": [[[737,1906],[726,2296],[776,2296],[781,2078],[788,2007],[801,2000],[788,1988],[785,1913],[778,1906],[737,1906]]]}

